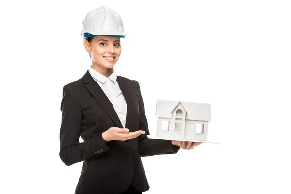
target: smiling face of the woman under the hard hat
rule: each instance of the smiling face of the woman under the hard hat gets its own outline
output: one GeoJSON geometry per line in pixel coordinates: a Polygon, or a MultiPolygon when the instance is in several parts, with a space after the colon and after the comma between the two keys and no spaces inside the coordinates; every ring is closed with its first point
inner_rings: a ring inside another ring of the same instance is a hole
{"type": "MultiPolygon", "coordinates": [[[[95,36],[85,48],[92,58],[92,65],[102,70],[111,69],[121,54],[120,38],[115,36],[95,36]]],[[[92,66],[93,67],[93,66],[92,66]]]]}

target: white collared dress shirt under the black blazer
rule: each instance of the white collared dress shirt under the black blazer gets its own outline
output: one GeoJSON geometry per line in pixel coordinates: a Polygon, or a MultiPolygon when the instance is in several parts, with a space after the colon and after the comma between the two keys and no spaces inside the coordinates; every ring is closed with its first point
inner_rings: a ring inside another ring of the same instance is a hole
{"type": "Polygon", "coordinates": [[[91,74],[93,79],[99,84],[105,95],[112,103],[122,126],[125,128],[127,104],[120,90],[118,82],[116,81],[117,75],[114,68],[113,73],[108,78],[93,69],[91,65],[89,67],[89,73],[91,74]]]}

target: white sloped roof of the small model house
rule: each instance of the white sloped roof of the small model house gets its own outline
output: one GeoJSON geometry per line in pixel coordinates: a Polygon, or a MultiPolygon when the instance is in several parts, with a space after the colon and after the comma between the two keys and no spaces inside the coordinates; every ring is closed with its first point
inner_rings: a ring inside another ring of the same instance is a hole
{"type": "Polygon", "coordinates": [[[186,119],[211,121],[211,105],[206,103],[157,100],[156,117],[172,118],[172,111],[181,103],[186,110],[186,119]]]}

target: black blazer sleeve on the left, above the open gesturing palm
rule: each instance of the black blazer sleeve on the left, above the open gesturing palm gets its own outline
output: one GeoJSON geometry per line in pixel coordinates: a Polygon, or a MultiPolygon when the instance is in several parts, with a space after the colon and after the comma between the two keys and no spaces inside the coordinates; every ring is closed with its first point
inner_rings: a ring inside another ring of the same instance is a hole
{"type": "Polygon", "coordinates": [[[72,89],[63,87],[61,102],[62,123],[60,129],[60,158],[69,166],[87,160],[101,152],[110,149],[104,142],[102,134],[94,136],[84,142],[79,142],[82,125],[82,111],[79,100],[74,96],[72,89]]]}

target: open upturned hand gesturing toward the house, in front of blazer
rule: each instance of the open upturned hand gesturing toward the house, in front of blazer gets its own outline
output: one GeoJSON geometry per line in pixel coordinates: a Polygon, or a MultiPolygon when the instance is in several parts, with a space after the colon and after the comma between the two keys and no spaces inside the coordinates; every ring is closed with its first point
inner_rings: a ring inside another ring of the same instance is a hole
{"type": "Polygon", "coordinates": [[[129,132],[129,129],[127,128],[111,127],[107,131],[102,133],[102,137],[105,142],[108,142],[111,140],[125,141],[125,140],[136,138],[140,136],[141,134],[146,134],[146,132],[143,130],[129,132]]]}

